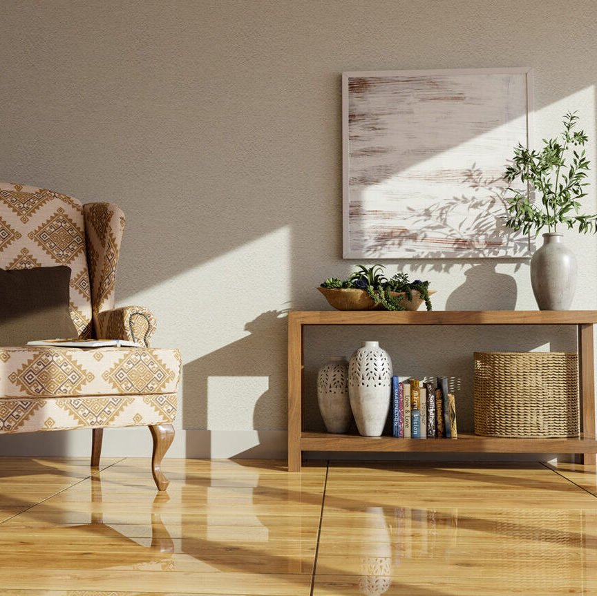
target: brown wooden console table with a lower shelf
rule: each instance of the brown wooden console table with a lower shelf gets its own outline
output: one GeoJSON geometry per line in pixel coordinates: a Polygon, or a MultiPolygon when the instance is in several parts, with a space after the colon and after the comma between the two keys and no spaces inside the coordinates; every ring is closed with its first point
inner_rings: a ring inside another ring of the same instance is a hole
{"type": "Polygon", "coordinates": [[[294,311],[288,314],[288,471],[300,472],[303,451],[574,453],[594,464],[595,377],[593,325],[597,311],[294,311]],[[305,325],[575,325],[578,329],[580,423],[578,439],[502,439],[458,434],[458,439],[397,439],[303,431],[305,325]]]}

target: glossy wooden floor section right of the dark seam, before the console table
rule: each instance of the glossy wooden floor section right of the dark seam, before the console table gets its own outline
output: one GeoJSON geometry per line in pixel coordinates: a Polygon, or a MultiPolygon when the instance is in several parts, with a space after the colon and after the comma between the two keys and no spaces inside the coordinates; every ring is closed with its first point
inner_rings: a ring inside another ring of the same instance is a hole
{"type": "Polygon", "coordinates": [[[339,464],[328,474],[316,596],[597,588],[597,501],[564,477],[578,481],[584,473],[589,485],[594,470],[560,465],[558,476],[540,464],[354,468],[339,464]]]}

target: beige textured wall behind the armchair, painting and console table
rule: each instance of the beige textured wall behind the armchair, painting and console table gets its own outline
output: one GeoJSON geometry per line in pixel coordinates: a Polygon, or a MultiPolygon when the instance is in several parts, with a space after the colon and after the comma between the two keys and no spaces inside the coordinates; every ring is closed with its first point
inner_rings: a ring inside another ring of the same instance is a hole
{"type": "MultiPolygon", "coordinates": [[[[284,313],[323,308],[314,287],[354,265],[341,259],[342,71],[531,66],[536,137],[579,110],[592,159],[596,17],[586,0],[3,0],[0,179],[127,213],[117,302],[151,307],[154,345],[184,356],[188,432],[171,454],[279,454],[284,313]]],[[[596,308],[597,241],[569,240],[573,307],[596,308]]],[[[387,265],[429,278],[436,309],[534,307],[524,261],[387,265]]],[[[554,329],[320,329],[308,383],[328,354],[373,338],[406,372],[455,376],[463,428],[473,349],[574,349],[554,329]]],[[[114,430],[104,444],[140,454],[149,437],[114,430]]],[[[0,447],[82,454],[88,433],[0,447]]]]}

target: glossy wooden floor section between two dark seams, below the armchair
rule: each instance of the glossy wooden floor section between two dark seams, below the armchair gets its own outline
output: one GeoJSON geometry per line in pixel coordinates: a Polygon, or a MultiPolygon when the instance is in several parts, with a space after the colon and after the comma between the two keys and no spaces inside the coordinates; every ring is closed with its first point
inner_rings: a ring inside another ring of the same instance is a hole
{"type": "Polygon", "coordinates": [[[35,572],[28,588],[60,590],[66,573],[73,588],[86,586],[69,596],[171,593],[175,578],[176,593],[310,592],[325,465],[296,476],[272,464],[178,461],[169,478],[156,493],[146,462],[125,461],[0,523],[0,550],[12,548],[0,572],[14,563],[35,572]]]}

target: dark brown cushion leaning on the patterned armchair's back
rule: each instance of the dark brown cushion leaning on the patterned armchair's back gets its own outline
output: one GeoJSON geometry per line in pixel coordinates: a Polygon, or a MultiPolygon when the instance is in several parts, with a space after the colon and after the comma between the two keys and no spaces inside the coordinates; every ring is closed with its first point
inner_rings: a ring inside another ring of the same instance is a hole
{"type": "Polygon", "coordinates": [[[70,267],[0,269],[0,345],[78,336],[68,311],[70,267]]]}

